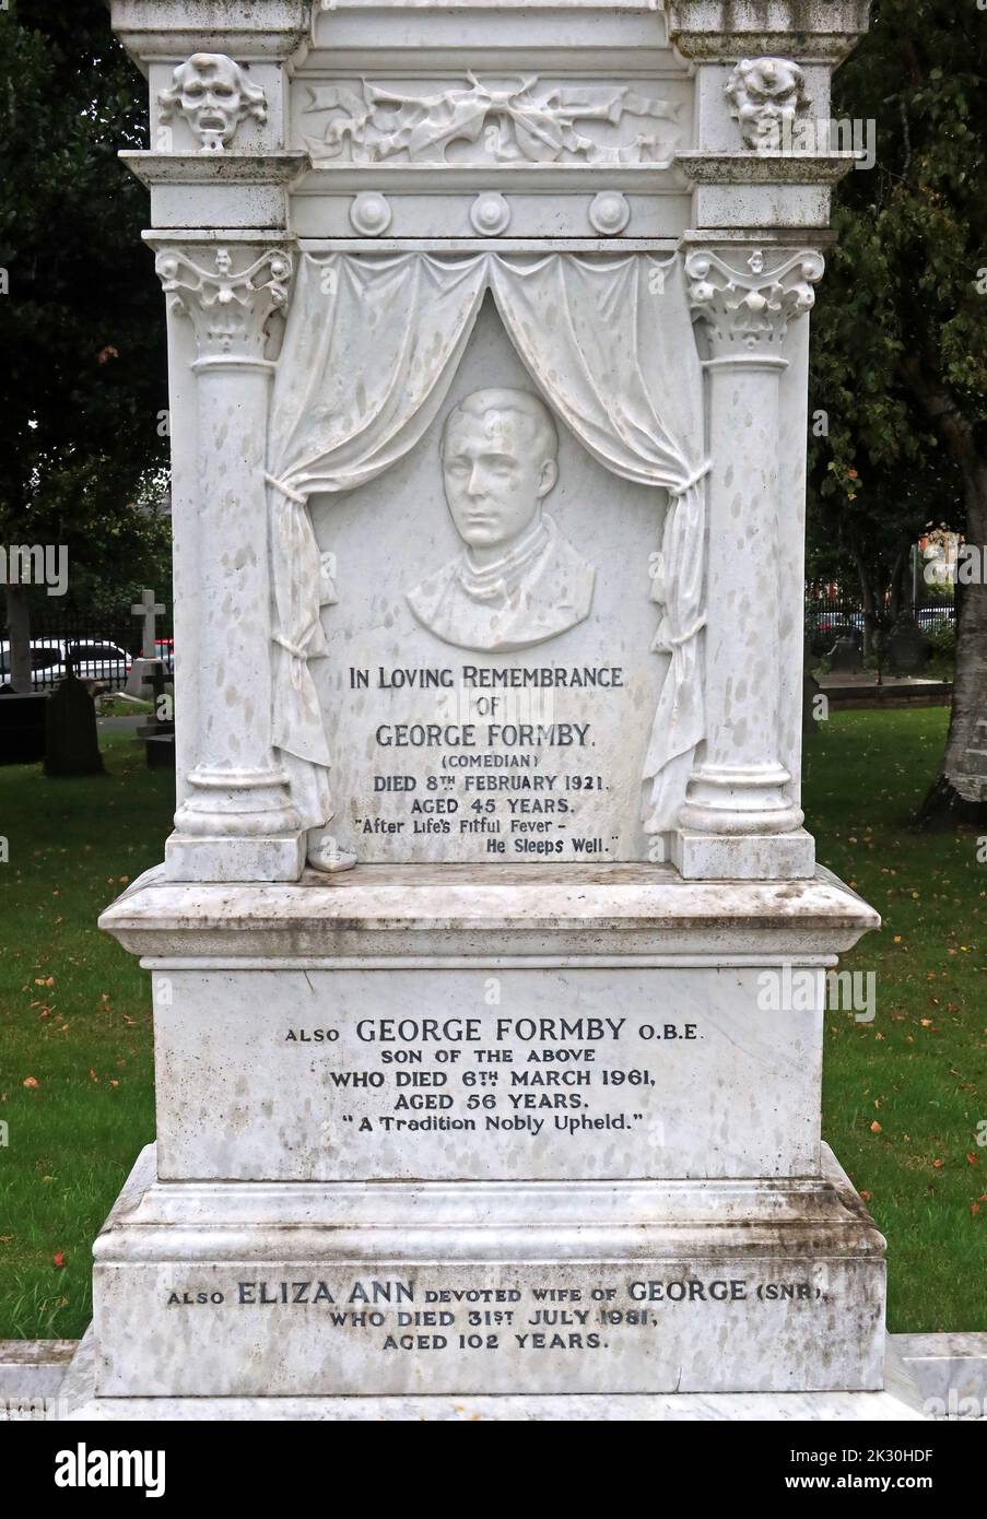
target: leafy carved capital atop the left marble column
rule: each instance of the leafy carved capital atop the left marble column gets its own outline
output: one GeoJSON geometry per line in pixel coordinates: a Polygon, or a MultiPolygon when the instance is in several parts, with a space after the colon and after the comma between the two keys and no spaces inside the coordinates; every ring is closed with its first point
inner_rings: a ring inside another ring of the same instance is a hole
{"type": "Polygon", "coordinates": [[[289,299],[289,254],[267,249],[235,272],[226,248],[216,249],[213,269],[200,269],[179,249],[164,248],[155,269],[172,308],[194,324],[199,358],[264,357],[267,324],[289,299]]]}

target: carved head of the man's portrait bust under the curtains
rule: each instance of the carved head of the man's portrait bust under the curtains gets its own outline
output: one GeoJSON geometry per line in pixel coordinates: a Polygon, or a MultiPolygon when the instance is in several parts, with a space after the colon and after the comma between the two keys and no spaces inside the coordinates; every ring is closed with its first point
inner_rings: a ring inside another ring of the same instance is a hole
{"type": "Polygon", "coordinates": [[[477,390],[446,422],[445,498],[471,548],[507,548],[559,478],[554,424],[524,390],[477,390]]]}

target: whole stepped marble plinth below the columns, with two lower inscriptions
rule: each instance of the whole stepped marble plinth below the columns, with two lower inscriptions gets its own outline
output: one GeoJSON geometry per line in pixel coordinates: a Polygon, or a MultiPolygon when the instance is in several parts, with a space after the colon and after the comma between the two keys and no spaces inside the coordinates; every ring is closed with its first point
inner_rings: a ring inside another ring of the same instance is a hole
{"type": "Polygon", "coordinates": [[[102,919],[158,1148],[96,1244],[97,1394],[879,1388],[811,984],[873,922],[821,873],[144,876],[102,919]]]}

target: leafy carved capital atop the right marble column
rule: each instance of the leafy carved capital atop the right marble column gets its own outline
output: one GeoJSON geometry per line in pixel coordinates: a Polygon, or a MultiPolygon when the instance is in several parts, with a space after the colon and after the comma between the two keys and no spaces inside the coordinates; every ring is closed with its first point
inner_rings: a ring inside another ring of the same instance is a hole
{"type": "Polygon", "coordinates": [[[797,252],[773,267],[755,249],[739,269],[718,254],[694,249],[685,260],[692,321],[706,322],[714,355],[777,354],[788,324],[811,310],[823,276],[821,254],[797,252]]]}

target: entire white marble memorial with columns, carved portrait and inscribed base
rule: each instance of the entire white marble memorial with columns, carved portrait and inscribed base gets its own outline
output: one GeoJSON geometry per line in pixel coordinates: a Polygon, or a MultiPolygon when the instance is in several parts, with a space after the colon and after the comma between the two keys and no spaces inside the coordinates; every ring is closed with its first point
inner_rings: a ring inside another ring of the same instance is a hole
{"type": "Polygon", "coordinates": [[[112,9],[179,805],[102,917],[152,971],[158,1142],[87,1407],[896,1416],[884,1243],[820,1141],[825,971],[876,916],[799,802],[867,6],[112,9]]]}

